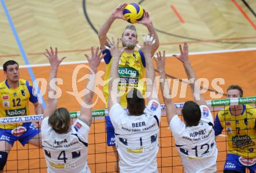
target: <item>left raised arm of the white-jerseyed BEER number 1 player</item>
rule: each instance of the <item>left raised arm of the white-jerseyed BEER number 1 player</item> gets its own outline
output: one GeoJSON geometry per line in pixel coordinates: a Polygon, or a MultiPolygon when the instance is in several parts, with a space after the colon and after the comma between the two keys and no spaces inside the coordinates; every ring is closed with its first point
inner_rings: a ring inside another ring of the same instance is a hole
{"type": "Polygon", "coordinates": [[[111,107],[120,102],[120,98],[118,97],[118,62],[120,59],[121,54],[126,49],[126,47],[123,47],[122,49],[119,49],[119,42],[120,38],[118,40],[114,41],[112,38],[112,42],[108,42],[108,45],[111,45],[110,48],[108,48],[111,52],[112,56],[112,65],[110,70],[110,80],[108,84],[108,91],[109,91],[109,97],[108,97],[108,111],[110,111],[111,107]],[[115,82],[115,83],[114,83],[115,82]]]}

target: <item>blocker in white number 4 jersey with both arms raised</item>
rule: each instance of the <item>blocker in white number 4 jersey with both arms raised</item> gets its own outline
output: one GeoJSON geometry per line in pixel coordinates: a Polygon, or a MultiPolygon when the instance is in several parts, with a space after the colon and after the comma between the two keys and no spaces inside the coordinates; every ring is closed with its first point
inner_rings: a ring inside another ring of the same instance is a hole
{"type": "MultiPolygon", "coordinates": [[[[51,47],[50,51],[47,49],[46,51],[47,53],[44,55],[51,64],[49,81],[55,83],[59,64],[65,57],[58,58],[57,48],[54,51],[51,47]]],[[[91,47],[91,58],[86,54],[90,67],[90,81],[84,89],[87,94],[84,95],[81,104],[80,116],[73,125],[69,111],[66,108],[57,108],[56,84],[49,84],[47,105],[41,123],[42,147],[47,161],[48,173],[91,172],[87,166],[88,134],[92,121],[91,101],[94,94],[92,89],[95,87],[95,74],[101,59],[104,57],[101,56],[101,53],[99,47],[95,52],[91,47]],[[56,95],[50,95],[50,93],[56,95]]]]}

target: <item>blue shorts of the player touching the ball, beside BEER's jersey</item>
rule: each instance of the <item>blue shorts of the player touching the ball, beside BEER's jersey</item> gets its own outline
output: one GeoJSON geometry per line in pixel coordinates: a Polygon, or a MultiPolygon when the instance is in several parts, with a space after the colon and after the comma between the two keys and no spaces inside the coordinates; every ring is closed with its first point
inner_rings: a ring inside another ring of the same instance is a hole
{"type": "Polygon", "coordinates": [[[115,128],[113,127],[110,117],[105,116],[106,119],[106,144],[108,146],[116,145],[115,128]]]}

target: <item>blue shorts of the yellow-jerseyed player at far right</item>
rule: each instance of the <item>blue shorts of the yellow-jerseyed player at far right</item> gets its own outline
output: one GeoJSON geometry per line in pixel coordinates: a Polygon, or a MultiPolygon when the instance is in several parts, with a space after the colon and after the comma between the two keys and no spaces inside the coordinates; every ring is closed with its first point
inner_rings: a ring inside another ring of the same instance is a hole
{"type": "Polygon", "coordinates": [[[245,157],[241,157],[236,154],[227,154],[224,170],[234,170],[245,173],[246,168],[248,168],[250,172],[256,171],[255,159],[246,159],[245,157]]]}

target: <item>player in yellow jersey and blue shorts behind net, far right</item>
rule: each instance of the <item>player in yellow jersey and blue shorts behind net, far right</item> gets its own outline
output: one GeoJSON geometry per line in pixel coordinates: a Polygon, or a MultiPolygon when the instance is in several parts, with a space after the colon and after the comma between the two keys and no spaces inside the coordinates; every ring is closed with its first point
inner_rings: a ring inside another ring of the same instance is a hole
{"type": "MultiPolygon", "coordinates": [[[[240,86],[227,88],[228,98],[243,97],[240,86]]],[[[215,119],[215,135],[226,130],[227,159],[225,173],[256,172],[256,108],[248,104],[226,106],[215,119]]]]}

